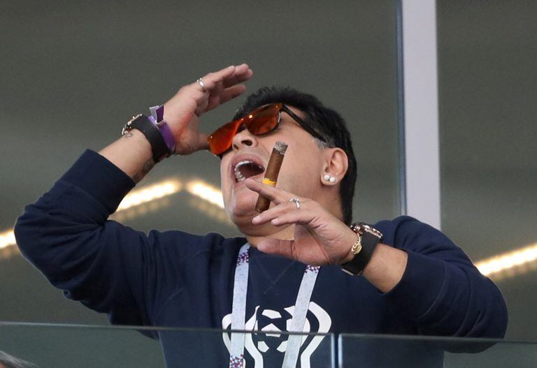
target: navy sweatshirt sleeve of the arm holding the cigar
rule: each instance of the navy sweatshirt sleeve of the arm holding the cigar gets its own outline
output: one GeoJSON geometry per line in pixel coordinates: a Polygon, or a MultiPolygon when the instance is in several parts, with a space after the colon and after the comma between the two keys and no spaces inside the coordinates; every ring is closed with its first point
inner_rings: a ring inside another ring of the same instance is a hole
{"type": "Polygon", "coordinates": [[[408,253],[401,281],[384,297],[420,334],[501,338],[507,308],[496,285],[443,233],[408,216],[381,221],[382,242],[408,253]]]}

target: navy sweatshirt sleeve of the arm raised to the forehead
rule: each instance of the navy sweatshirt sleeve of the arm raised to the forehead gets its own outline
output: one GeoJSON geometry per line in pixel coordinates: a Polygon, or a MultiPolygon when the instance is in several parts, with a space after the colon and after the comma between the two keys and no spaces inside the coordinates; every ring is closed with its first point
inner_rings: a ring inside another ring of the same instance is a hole
{"type": "Polygon", "coordinates": [[[133,187],[124,172],[87,150],[25,207],[15,237],[22,255],[69,299],[108,314],[113,323],[148,325],[144,265],[155,235],[107,220],[133,187]]]}

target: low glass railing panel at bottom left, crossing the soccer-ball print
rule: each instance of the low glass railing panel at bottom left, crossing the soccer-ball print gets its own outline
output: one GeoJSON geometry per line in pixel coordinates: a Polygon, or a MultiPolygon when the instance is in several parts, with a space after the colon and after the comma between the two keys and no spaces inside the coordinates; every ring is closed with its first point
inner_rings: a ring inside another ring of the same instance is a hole
{"type": "MultiPolygon", "coordinates": [[[[299,367],[334,367],[333,335],[300,336],[299,367]]],[[[246,366],[281,367],[288,337],[246,334],[246,366]]],[[[221,330],[0,323],[0,351],[38,367],[227,367],[229,339],[221,330]]]]}

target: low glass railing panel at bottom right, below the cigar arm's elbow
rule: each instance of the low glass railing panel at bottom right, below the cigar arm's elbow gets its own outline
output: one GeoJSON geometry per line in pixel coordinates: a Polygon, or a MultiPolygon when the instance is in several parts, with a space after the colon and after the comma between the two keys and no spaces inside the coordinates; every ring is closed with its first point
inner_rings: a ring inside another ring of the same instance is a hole
{"type": "Polygon", "coordinates": [[[341,367],[531,368],[537,344],[488,339],[342,334],[341,367]]]}

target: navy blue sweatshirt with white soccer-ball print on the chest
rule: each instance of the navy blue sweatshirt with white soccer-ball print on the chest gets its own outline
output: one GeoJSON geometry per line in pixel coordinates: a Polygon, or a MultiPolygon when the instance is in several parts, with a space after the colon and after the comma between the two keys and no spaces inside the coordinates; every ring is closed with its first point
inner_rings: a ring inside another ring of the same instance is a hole
{"type": "MultiPolygon", "coordinates": [[[[17,220],[22,254],[66,297],[108,314],[111,323],[229,328],[236,258],[245,238],[178,230],[145,234],[108,220],[133,187],[124,172],[87,150],[17,220]]],[[[408,253],[403,278],[381,293],[363,277],[322,266],[308,309],[309,332],[503,337],[507,313],[501,293],[443,233],[408,216],[375,228],[383,243],[408,253]]],[[[285,330],[305,267],[250,249],[247,329],[285,330]]],[[[199,367],[227,365],[224,338],[199,355],[192,339],[171,332],[155,337],[168,367],[194,358],[206,359],[199,367]]],[[[306,341],[301,353],[308,344],[318,341],[306,341]]],[[[248,367],[257,367],[259,355],[282,358],[277,346],[270,341],[247,346],[248,367]]],[[[315,367],[315,350],[310,358],[315,367]]]]}

